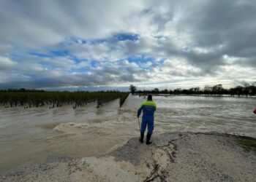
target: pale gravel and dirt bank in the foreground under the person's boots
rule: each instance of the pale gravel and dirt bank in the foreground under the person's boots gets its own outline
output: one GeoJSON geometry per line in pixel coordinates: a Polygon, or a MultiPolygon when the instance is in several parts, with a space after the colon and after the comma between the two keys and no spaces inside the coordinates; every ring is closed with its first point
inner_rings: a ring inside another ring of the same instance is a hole
{"type": "Polygon", "coordinates": [[[132,138],[102,157],[59,159],[1,174],[0,181],[255,181],[253,138],[175,132],[153,140],[146,146],[132,138]]]}

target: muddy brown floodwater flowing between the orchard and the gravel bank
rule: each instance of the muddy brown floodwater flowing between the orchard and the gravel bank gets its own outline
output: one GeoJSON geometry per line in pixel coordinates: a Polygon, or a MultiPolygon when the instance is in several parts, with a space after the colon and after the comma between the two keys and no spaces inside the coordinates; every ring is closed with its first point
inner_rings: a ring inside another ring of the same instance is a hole
{"type": "MultiPolygon", "coordinates": [[[[91,157],[139,135],[137,109],[145,100],[129,95],[96,108],[48,106],[0,108],[0,173],[50,157],[91,157]]],[[[155,96],[154,133],[227,132],[256,137],[255,98],[155,96]]],[[[154,140],[154,135],[153,135],[154,140]]]]}

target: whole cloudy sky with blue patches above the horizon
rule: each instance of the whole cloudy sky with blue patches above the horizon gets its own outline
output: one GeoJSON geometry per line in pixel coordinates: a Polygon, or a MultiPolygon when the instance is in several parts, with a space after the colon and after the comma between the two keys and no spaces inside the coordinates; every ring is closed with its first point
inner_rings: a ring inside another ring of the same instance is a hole
{"type": "Polygon", "coordinates": [[[254,0],[0,0],[0,89],[256,81],[254,0]]]}

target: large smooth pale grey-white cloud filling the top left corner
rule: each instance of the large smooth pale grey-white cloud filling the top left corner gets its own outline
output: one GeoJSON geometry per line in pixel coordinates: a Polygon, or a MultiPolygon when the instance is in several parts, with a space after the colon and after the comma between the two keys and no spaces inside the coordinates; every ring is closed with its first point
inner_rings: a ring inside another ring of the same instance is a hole
{"type": "Polygon", "coordinates": [[[135,0],[1,1],[0,39],[21,46],[40,47],[58,44],[70,36],[105,38],[124,31],[123,18],[141,9],[142,1],[135,0]]]}

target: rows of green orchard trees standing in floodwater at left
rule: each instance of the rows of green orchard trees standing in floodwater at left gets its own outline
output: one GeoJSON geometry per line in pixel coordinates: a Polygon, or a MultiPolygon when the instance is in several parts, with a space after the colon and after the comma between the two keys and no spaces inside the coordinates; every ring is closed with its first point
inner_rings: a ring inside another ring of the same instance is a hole
{"type": "Polygon", "coordinates": [[[89,103],[108,103],[120,99],[120,106],[129,95],[128,92],[45,92],[43,90],[1,90],[0,105],[5,107],[24,106],[24,108],[50,106],[50,108],[73,105],[73,108],[89,103]]]}

